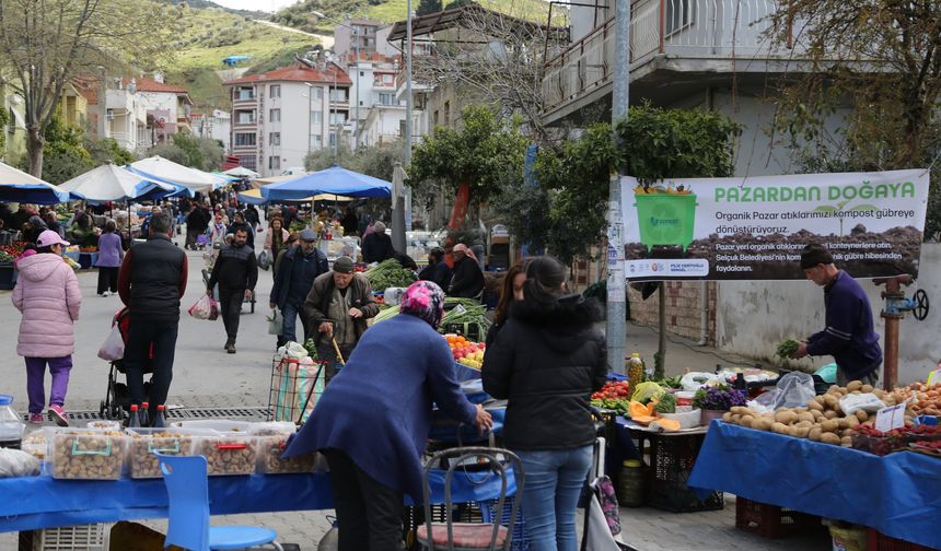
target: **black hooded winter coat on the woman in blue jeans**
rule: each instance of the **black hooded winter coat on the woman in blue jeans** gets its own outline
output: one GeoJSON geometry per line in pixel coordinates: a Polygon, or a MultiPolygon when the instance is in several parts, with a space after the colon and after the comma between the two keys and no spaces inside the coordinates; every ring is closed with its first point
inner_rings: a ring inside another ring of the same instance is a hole
{"type": "Polygon", "coordinates": [[[567,295],[514,302],[484,356],[484,390],[508,399],[510,449],[569,449],[595,439],[591,394],[604,386],[607,350],[597,301],[567,295]]]}

